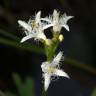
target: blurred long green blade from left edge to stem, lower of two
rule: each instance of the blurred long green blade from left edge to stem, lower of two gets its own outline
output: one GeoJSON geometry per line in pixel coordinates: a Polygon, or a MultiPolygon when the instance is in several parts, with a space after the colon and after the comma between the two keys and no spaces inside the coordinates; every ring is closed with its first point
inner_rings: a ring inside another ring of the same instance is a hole
{"type": "Polygon", "coordinates": [[[42,48],[40,48],[40,47],[38,48],[37,46],[35,46],[33,44],[29,44],[27,42],[20,43],[20,42],[8,40],[8,39],[0,38],[0,43],[3,45],[14,47],[14,48],[23,49],[23,50],[30,51],[30,52],[35,52],[38,54],[44,53],[42,48]]]}

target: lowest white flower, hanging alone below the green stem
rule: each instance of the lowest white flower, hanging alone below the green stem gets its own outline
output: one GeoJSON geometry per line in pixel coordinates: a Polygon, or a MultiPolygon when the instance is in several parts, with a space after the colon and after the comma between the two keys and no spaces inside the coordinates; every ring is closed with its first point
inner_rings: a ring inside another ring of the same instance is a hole
{"type": "Polygon", "coordinates": [[[59,52],[56,57],[54,57],[52,62],[43,62],[41,65],[44,77],[44,89],[48,89],[51,82],[52,76],[63,76],[69,78],[67,73],[59,69],[59,63],[62,58],[63,53],[59,52]]]}

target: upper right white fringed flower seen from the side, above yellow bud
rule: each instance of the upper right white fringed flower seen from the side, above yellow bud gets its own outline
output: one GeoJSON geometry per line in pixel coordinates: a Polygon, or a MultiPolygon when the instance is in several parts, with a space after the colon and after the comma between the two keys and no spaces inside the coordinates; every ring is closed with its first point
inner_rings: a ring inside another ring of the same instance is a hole
{"type": "Polygon", "coordinates": [[[57,12],[57,10],[54,10],[53,16],[41,19],[49,23],[49,25],[47,25],[47,28],[53,26],[54,32],[60,32],[62,27],[64,27],[67,31],[69,31],[69,26],[67,22],[71,18],[73,18],[73,16],[67,16],[66,13],[59,16],[59,12],[57,12]]]}

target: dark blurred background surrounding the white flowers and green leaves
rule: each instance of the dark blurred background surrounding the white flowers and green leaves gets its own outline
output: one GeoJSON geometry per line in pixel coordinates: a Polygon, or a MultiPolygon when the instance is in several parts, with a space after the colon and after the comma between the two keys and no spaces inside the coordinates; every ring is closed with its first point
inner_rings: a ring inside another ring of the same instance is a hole
{"type": "MultiPolygon", "coordinates": [[[[71,79],[59,78],[60,80],[52,82],[48,95],[91,96],[96,87],[96,0],[0,0],[0,29],[22,38],[24,35],[17,20],[27,21],[39,10],[42,11],[42,16],[46,16],[52,14],[54,9],[75,16],[68,22],[70,32],[62,30],[65,39],[58,51],[63,50],[66,58],[76,62],[65,60],[66,64],[62,68],[71,79]],[[91,66],[93,69],[90,71],[90,68],[78,67],[78,64],[91,66]]],[[[0,34],[0,38],[2,37],[9,39],[0,34]]],[[[11,76],[13,72],[17,72],[22,78],[34,78],[35,93],[39,96],[43,86],[40,64],[44,60],[45,55],[0,43],[0,89],[17,92],[11,76]]]]}

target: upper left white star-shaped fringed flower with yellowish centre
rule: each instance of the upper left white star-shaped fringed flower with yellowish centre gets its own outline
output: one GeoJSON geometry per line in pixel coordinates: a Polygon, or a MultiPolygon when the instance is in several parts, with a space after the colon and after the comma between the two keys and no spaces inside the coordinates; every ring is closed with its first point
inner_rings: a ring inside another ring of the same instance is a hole
{"type": "Polygon", "coordinates": [[[41,23],[40,16],[41,11],[36,14],[35,20],[29,20],[28,23],[18,20],[18,23],[25,29],[24,32],[26,34],[26,36],[22,38],[21,42],[24,42],[31,38],[46,40],[46,36],[44,34],[46,24],[44,25],[44,23],[41,23]]]}

